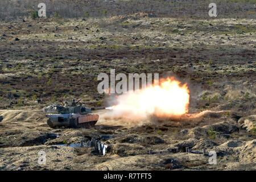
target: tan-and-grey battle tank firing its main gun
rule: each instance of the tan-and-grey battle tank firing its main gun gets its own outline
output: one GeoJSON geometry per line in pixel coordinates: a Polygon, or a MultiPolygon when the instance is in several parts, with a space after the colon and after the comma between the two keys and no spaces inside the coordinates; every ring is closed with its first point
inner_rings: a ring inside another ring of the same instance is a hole
{"type": "Polygon", "coordinates": [[[49,127],[72,127],[72,128],[90,128],[96,125],[99,115],[92,114],[92,110],[105,108],[89,108],[78,104],[79,101],[65,101],[65,105],[49,105],[44,107],[44,112],[48,118],[49,127]]]}

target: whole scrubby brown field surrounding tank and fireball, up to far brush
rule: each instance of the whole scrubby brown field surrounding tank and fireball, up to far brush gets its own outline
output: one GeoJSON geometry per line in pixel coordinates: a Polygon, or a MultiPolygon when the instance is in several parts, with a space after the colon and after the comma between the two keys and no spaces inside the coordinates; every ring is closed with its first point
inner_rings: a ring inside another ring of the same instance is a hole
{"type": "Polygon", "coordinates": [[[256,169],[255,30],[255,19],[147,14],[1,22],[0,169],[256,169]],[[97,75],[110,68],[188,82],[192,114],[140,125],[101,117],[92,129],[47,126],[40,110],[51,102],[75,97],[108,106],[97,93],[97,75]],[[100,135],[114,136],[102,139],[105,156],[63,146],[100,135]],[[216,151],[217,165],[186,147],[216,151]]]}

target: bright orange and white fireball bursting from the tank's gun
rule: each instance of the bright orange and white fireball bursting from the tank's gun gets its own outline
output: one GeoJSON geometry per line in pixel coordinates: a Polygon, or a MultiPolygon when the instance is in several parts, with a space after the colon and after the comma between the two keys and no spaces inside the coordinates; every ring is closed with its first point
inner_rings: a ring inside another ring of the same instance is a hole
{"type": "Polygon", "coordinates": [[[187,84],[174,77],[160,81],[145,89],[123,94],[117,99],[118,104],[112,109],[117,115],[173,117],[188,112],[189,89],[187,84]]]}

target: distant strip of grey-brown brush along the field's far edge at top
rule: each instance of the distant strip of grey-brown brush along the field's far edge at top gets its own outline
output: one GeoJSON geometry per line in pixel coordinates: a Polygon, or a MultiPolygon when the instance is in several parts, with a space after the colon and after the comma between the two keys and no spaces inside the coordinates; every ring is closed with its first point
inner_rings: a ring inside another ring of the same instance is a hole
{"type": "MultiPolygon", "coordinates": [[[[209,18],[212,0],[0,0],[0,19],[36,18],[39,3],[48,18],[89,18],[147,13],[157,17],[209,18]]],[[[216,0],[218,18],[256,18],[256,0],[216,0]]]]}

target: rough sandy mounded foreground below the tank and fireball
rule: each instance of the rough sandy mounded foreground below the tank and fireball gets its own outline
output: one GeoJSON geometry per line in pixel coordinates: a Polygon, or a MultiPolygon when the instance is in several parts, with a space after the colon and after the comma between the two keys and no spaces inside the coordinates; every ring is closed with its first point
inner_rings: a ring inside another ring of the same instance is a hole
{"type": "MultiPolygon", "coordinates": [[[[108,125],[103,118],[92,129],[50,129],[42,111],[2,110],[1,170],[251,170],[256,169],[256,116],[204,111],[179,120],[143,125],[108,125]],[[73,147],[101,135],[105,156],[90,147],[73,147]],[[186,152],[202,152],[205,155],[186,152]],[[46,164],[39,165],[39,152],[46,164]],[[217,164],[209,164],[216,151],[217,164]]],[[[102,114],[102,113],[100,113],[102,114]]]]}

